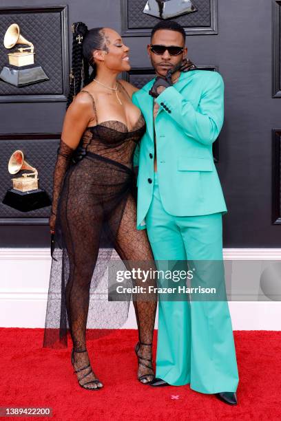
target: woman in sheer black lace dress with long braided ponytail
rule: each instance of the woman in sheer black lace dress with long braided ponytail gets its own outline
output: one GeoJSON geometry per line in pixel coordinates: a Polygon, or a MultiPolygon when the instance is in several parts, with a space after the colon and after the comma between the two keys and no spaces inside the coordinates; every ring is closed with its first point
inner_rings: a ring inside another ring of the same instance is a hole
{"type": "MultiPolygon", "coordinates": [[[[102,289],[112,250],[129,269],[149,269],[147,262],[153,261],[145,230],[136,230],[132,171],[145,120],[131,100],[136,88],[117,80],[118,74],[130,69],[129,47],[121,36],[110,28],[87,30],[80,22],[72,25],[72,32],[71,89],[54,169],[50,217],[54,244],[43,347],[54,347],[58,339],[67,346],[68,323],[79,385],[98,390],[103,383],[92,371],[85,338],[90,293],[102,289]],[[94,69],[90,78],[89,65],[94,69]],[[136,266],[136,261],[141,263],[136,266]]],[[[144,384],[155,377],[152,338],[157,296],[149,295],[149,301],[134,300],[138,380],[144,384]]],[[[109,302],[105,296],[94,305],[94,327],[119,327],[127,317],[128,302],[109,302]]]]}

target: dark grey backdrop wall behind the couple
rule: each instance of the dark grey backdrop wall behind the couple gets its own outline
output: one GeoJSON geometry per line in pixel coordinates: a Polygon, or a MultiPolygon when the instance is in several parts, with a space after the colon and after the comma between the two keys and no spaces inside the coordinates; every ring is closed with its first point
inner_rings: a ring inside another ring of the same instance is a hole
{"type": "MultiPolygon", "coordinates": [[[[145,6],[146,2],[143,3],[145,6]]],[[[205,7],[206,3],[204,1],[205,7]]],[[[212,2],[212,7],[214,3],[216,4],[216,1],[212,2]]],[[[71,0],[64,4],[67,6],[66,41],[70,56],[70,27],[74,21],[83,21],[89,28],[104,25],[118,32],[122,30],[121,0],[71,0]]],[[[194,4],[199,9],[202,1],[194,0],[194,4]]],[[[0,8],[42,5],[50,7],[58,6],[59,3],[52,0],[42,3],[38,0],[0,1],[0,8]]],[[[281,98],[275,94],[280,90],[280,67],[274,62],[276,56],[273,54],[274,45],[275,50],[278,50],[280,41],[280,32],[276,28],[276,25],[280,24],[280,1],[218,0],[216,14],[218,27],[214,28],[213,25],[209,33],[208,30],[202,30],[198,34],[191,32],[187,35],[187,47],[188,56],[192,61],[202,67],[211,66],[218,69],[225,80],[225,123],[218,140],[219,160],[216,162],[229,210],[223,219],[224,246],[280,247],[281,98]],[[216,30],[218,34],[212,33],[216,30]]],[[[123,26],[124,19],[125,14],[123,26]]],[[[28,39],[28,36],[25,37],[28,39]]],[[[145,52],[149,37],[142,33],[130,34],[127,31],[124,42],[131,48],[132,66],[149,67],[149,59],[145,52]]],[[[3,43],[3,37],[0,43],[3,43]]],[[[6,61],[5,54],[2,49],[1,67],[6,61]]],[[[63,80],[65,83],[65,79],[63,80]]],[[[26,138],[25,133],[39,133],[37,142],[42,142],[42,145],[50,140],[50,150],[43,146],[42,156],[38,146],[34,146],[35,155],[30,152],[33,158],[30,164],[35,165],[36,160],[44,162],[41,164],[39,177],[45,176],[45,166],[48,166],[48,162],[52,169],[55,142],[58,142],[55,133],[60,133],[65,114],[65,86],[61,91],[52,93],[52,98],[51,95],[49,98],[33,100],[26,97],[21,99],[22,102],[6,102],[3,91],[0,91],[0,150],[10,147],[10,142],[21,145],[26,138]]],[[[28,147],[33,145],[34,137],[26,142],[30,142],[28,147]]],[[[10,188],[11,177],[6,169],[6,155],[9,153],[5,153],[5,150],[0,155],[1,191],[10,188]]],[[[41,187],[50,191],[49,184],[41,187]]],[[[38,218],[37,224],[34,224],[34,219],[29,219],[28,223],[27,219],[25,223],[20,219],[9,219],[5,211],[2,210],[1,213],[0,209],[0,247],[48,247],[50,235],[45,219],[48,210],[49,208],[45,208],[38,215],[30,215],[38,218]]],[[[21,215],[15,213],[13,217],[21,215]]]]}

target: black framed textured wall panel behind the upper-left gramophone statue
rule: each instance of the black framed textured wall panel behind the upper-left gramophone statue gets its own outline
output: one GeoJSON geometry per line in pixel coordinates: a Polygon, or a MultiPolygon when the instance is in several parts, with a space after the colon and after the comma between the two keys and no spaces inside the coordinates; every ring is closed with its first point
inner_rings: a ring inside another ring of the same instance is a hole
{"type": "Polygon", "coordinates": [[[12,23],[17,23],[22,36],[34,44],[34,63],[41,65],[49,80],[17,87],[0,79],[0,102],[65,101],[69,77],[67,6],[1,8],[1,69],[8,64],[8,53],[27,47],[17,44],[6,48],[3,45],[12,23]]]}

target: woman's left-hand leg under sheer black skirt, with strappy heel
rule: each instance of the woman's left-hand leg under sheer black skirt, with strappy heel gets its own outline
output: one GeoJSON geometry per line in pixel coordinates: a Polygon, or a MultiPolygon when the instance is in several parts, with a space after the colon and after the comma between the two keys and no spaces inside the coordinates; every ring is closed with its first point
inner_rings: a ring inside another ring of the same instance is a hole
{"type": "MultiPolygon", "coordinates": [[[[77,351],[86,349],[90,285],[98,257],[102,221],[101,206],[93,204],[90,195],[83,189],[76,191],[75,195],[65,195],[61,205],[61,226],[70,266],[65,301],[73,347],[77,351]]],[[[89,364],[87,352],[74,352],[75,370],[89,364]]],[[[77,378],[81,380],[81,385],[96,380],[90,367],[79,371],[77,378]]],[[[102,387],[102,384],[98,383],[98,386],[102,387]]],[[[85,387],[96,389],[97,385],[90,382],[85,387]]]]}

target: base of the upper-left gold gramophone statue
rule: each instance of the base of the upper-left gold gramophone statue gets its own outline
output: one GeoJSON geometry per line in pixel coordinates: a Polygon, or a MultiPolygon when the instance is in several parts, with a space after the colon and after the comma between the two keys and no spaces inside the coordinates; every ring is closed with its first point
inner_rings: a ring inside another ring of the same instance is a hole
{"type": "Polygon", "coordinates": [[[15,67],[4,65],[0,78],[10,85],[17,87],[32,85],[33,83],[49,80],[41,66],[15,67]]]}

